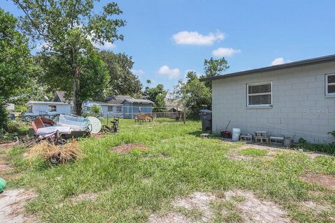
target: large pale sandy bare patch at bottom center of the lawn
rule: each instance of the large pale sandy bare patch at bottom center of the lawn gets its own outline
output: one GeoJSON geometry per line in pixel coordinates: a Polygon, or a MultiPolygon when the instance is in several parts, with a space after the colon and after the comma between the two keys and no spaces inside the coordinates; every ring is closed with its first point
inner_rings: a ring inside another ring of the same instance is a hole
{"type": "Polygon", "coordinates": [[[290,222],[290,219],[286,217],[286,212],[276,205],[276,203],[263,201],[258,199],[255,194],[243,190],[222,192],[218,196],[211,193],[195,192],[188,197],[172,201],[174,210],[165,215],[151,215],[149,222],[212,222],[216,217],[220,217],[217,215],[225,217],[225,215],[231,213],[232,210],[225,209],[223,206],[223,209],[218,214],[213,206],[211,206],[215,202],[233,203],[234,211],[241,215],[243,222],[290,222]],[[190,216],[175,210],[175,208],[184,208],[190,211],[197,210],[198,213],[201,213],[201,217],[199,220],[194,220],[190,216]]]}

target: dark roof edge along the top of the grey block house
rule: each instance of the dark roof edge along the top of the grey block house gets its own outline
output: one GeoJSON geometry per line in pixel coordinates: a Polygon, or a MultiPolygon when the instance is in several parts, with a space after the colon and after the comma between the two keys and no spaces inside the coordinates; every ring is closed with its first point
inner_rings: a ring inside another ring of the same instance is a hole
{"type": "Polygon", "coordinates": [[[306,59],[302,61],[295,61],[295,62],[290,62],[290,63],[283,63],[275,66],[269,66],[265,68],[257,68],[253,70],[244,70],[240,72],[232,72],[226,75],[218,75],[215,77],[206,77],[200,79],[200,81],[209,81],[209,80],[214,80],[214,79],[222,79],[222,78],[227,78],[227,77],[232,77],[232,76],[240,76],[240,75],[251,75],[259,72],[267,72],[267,71],[274,71],[274,70],[281,70],[285,68],[296,68],[296,67],[301,67],[301,66],[308,66],[308,65],[313,65],[313,64],[318,64],[318,63],[326,63],[326,62],[332,62],[335,61],[335,54],[329,55],[329,56],[321,56],[321,57],[316,57],[313,59],[306,59]]]}

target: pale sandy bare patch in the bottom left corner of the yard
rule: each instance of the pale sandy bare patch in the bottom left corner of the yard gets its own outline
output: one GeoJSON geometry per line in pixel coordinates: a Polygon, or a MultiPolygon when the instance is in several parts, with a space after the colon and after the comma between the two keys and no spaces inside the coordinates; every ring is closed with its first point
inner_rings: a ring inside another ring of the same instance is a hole
{"type": "Polygon", "coordinates": [[[24,204],[34,197],[29,190],[4,190],[0,194],[0,223],[36,222],[36,217],[24,212],[24,204]]]}

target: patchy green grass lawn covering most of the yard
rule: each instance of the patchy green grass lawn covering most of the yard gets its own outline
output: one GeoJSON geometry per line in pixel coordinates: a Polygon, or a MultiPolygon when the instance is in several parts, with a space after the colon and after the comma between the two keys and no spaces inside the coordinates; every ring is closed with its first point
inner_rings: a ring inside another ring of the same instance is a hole
{"type": "Polygon", "coordinates": [[[335,215],[334,192],[299,178],[309,172],[334,174],[334,157],[311,159],[283,151],[272,159],[232,160],[228,154],[241,143],[200,138],[199,121],[184,125],[121,120],[120,130],[101,139],[81,139],[84,157],[70,164],[30,162],[22,156],[25,149],[13,148],[10,159],[22,176],[10,180],[9,187],[34,188],[38,198],[29,201],[27,210],[45,222],[146,222],[151,213],[168,210],[177,197],[193,192],[219,194],[236,188],[278,203],[297,222],[332,222],[329,216],[335,215]],[[128,154],[112,151],[114,146],[127,143],[144,144],[149,150],[128,154]],[[69,201],[69,197],[82,193],[96,193],[98,197],[94,201],[69,201]],[[312,213],[300,208],[303,201],[330,203],[333,210],[312,213]]]}

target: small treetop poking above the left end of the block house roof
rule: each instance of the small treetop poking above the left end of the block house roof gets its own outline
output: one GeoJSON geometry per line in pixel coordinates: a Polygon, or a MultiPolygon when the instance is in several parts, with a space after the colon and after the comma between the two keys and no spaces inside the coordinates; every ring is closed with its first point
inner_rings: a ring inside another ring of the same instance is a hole
{"type": "MultiPolygon", "coordinates": [[[[225,58],[221,59],[204,59],[204,75],[201,77],[215,77],[217,75],[222,75],[225,70],[228,70],[228,61],[225,58]]],[[[205,82],[206,86],[211,89],[211,82],[205,82]]]]}

